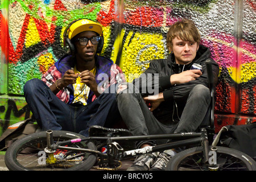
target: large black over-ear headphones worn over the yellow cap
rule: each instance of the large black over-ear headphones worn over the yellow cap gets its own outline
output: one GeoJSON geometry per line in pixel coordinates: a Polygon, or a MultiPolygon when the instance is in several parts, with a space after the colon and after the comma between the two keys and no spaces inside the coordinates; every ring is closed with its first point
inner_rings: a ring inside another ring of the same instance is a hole
{"type": "MultiPolygon", "coordinates": [[[[72,43],[72,40],[68,38],[68,31],[73,23],[75,23],[81,19],[85,19],[85,18],[80,18],[80,19],[77,19],[77,20],[74,20],[73,22],[71,22],[67,26],[67,28],[65,28],[65,31],[63,33],[63,46],[64,46],[65,50],[71,55],[76,53],[76,46],[75,46],[75,44],[72,43]]],[[[90,19],[87,19],[87,20],[90,20],[90,19]]],[[[96,53],[101,53],[103,46],[104,46],[104,37],[102,34],[102,35],[100,35],[100,41],[98,42],[98,47],[97,47],[96,53]]]]}

